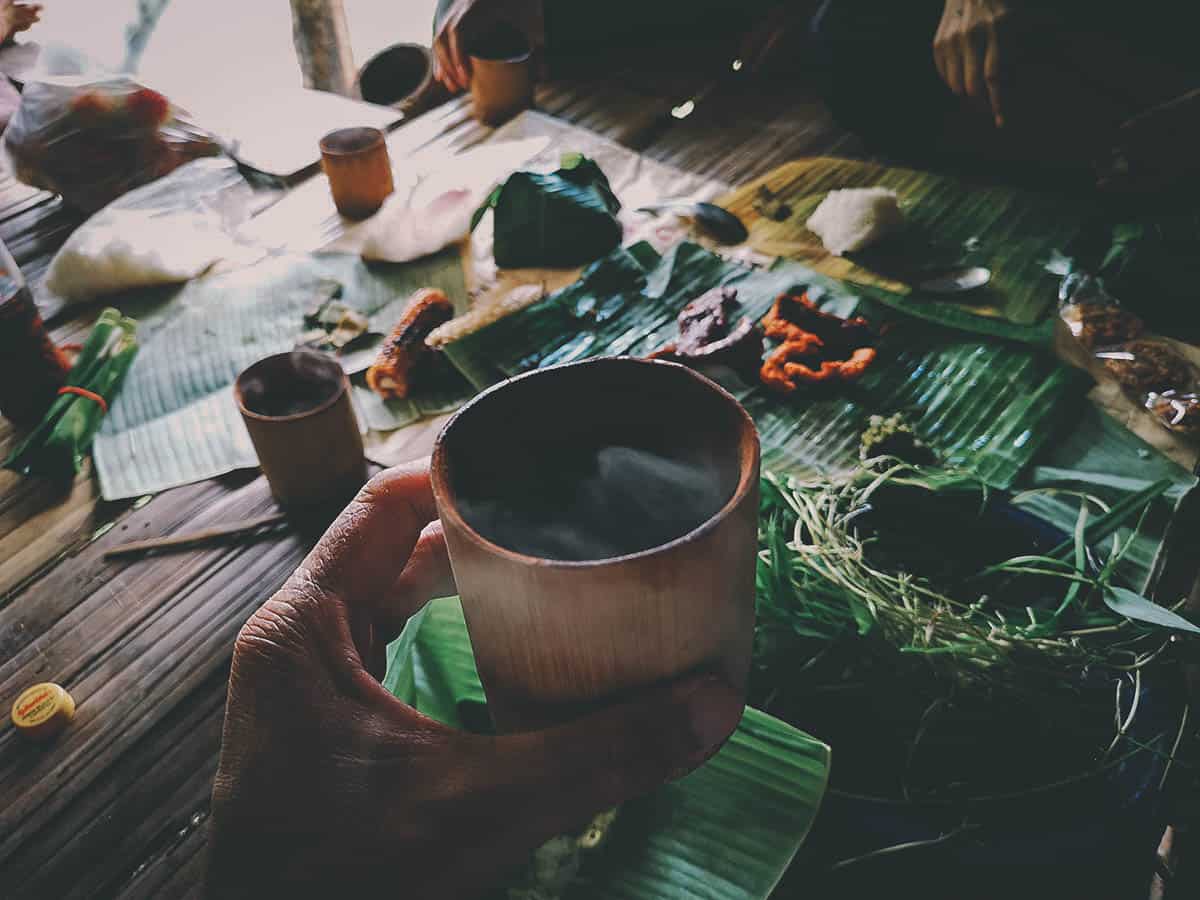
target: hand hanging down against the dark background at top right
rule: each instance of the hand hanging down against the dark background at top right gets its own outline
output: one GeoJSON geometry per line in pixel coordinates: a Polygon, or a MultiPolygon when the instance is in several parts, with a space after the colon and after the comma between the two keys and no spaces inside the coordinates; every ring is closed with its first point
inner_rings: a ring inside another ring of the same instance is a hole
{"type": "Polygon", "coordinates": [[[1006,0],[946,0],[934,35],[934,65],[960,97],[989,108],[997,128],[1001,104],[1001,52],[1007,50],[1012,12],[1006,0]]]}

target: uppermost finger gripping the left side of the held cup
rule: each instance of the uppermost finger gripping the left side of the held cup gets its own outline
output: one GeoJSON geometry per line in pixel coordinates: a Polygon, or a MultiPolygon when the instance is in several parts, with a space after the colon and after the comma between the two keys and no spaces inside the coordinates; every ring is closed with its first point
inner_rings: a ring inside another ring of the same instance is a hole
{"type": "Polygon", "coordinates": [[[437,517],[428,461],[371,479],[288,582],[349,607],[373,606],[395,586],[425,527],[437,517]]]}

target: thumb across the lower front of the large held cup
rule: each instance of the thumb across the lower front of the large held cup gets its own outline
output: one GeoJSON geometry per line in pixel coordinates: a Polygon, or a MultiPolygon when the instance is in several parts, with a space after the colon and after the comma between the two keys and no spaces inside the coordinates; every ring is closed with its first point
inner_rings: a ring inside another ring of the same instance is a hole
{"type": "Polygon", "coordinates": [[[491,775],[517,793],[536,842],[697,768],[743,708],[720,678],[692,676],[569,725],[500,737],[491,775]]]}

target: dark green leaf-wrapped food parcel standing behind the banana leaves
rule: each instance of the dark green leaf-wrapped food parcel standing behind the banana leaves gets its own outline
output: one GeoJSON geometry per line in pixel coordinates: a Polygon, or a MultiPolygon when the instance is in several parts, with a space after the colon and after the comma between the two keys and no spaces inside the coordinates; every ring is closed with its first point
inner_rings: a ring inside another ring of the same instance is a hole
{"type": "Polygon", "coordinates": [[[494,211],[493,254],[502,269],[570,268],[599,259],[620,244],[620,202],[595,161],[563,157],[548,175],[516,172],[472,218],[494,211]]]}

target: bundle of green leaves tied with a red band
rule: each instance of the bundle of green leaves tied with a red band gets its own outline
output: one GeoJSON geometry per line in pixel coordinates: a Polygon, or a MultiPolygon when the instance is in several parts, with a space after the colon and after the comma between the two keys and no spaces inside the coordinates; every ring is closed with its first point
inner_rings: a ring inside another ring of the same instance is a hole
{"type": "Polygon", "coordinates": [[[137,352],[137,323],[116,310],[104,310],[67,376],[65,392],[5,460],[5,468],[56,480],[78,474],[137,352]],[[70,392],[71,388],[98,396],[103,403],[70,392]]]}

